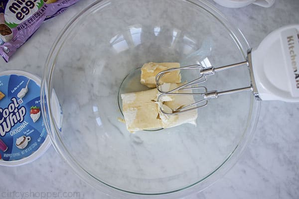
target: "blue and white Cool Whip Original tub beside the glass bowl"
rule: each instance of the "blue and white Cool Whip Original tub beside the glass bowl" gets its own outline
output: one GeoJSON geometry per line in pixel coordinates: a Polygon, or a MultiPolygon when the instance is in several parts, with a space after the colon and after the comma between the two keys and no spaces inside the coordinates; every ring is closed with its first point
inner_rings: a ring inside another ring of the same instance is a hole
{"type": "Polygon", "coordinates": [[[24,71],[0,73],[0,165],[29,163],[50,146],[40,109],[40,82],[24,71]]]}

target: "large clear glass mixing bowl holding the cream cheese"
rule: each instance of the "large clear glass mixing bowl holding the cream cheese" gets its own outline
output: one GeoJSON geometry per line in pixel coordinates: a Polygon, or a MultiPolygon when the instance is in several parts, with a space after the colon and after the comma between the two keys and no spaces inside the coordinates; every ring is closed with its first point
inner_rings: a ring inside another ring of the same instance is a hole
{"type": "MultiPolygon", "coordinates": [[[[46,61],[41,103],[54,147],[77,175],[110,195],[203,190],[250,140],[260,104],[252,93],[210,100],[198,109],[196,126],[134,134],[118,120],[118,95],[136,89],[138,78],[123,80],[144,63],[217,67],[244,61],[248,48],[242,33],[204,0],[94,2],[66,25],[46,61]]],[[[182,79],[198,76],[193,71],[182,79]]],[[[249,85],[246,66],[205,83],[219,91],[249,85]]]]}

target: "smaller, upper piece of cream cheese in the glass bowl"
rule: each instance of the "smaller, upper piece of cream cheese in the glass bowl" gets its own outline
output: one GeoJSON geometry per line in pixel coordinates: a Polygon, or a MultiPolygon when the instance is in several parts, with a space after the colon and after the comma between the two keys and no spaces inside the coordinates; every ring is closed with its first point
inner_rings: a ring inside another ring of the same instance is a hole
{"type": "MultiPolygon", "coordinates": [[[[155,76],[161,72],[165,71],[170,68],[179,68],[179,63],[171,63],[171,62],[164,62],[164,63],[154,63],[149,62],[143,65],[141,68],[141,84],[149,87],[155,88],[156,81],[155,76]]],[[[165,73],[159,81],[160,84],[163,83],[181,83],[181,75],[180,71],[172,71],[169,73],[165,73]]]]}

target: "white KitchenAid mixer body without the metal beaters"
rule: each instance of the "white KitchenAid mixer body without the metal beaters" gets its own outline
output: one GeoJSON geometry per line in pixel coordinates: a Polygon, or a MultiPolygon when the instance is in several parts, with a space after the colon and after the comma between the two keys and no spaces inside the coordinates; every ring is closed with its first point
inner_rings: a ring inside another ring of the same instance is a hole
{"type": "Polygon", "coordinates": [[[249,63],[261,100],[299,102],[299,24],[270,33],[249,63]]]}

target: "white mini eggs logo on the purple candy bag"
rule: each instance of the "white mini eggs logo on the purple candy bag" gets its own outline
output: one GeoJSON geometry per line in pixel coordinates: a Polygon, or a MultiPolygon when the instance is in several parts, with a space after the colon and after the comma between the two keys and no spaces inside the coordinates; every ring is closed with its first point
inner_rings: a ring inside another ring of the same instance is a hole
{"type": "Polygon", "coordinates": [[[9,6],[9,10],[15,14],[15,18],[21,21],[34,8],[35,2],[36,0],[14,0],[9,6]]]}

